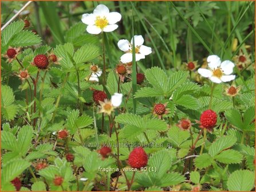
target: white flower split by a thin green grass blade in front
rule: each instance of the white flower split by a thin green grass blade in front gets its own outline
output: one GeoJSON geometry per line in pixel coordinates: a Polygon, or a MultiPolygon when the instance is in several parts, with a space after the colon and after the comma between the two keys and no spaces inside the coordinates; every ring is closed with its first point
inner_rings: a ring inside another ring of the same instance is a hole
{"type": "MultiPolygon", "coordinates": [[[[124,51],[120,58],[122,63],[129,63],[132,62],[132,42],[131,43],[127,39],[121,39],[117,43],[120,50],[124,51]]],[[[135,59],[136,61],[140,61],[140,59],[144,59],[145,55],[149,55],[152,53],[151,47],[144,46],[144,39],[141,35],[134,35],[134,42],[135,42],[135,59]]]]}

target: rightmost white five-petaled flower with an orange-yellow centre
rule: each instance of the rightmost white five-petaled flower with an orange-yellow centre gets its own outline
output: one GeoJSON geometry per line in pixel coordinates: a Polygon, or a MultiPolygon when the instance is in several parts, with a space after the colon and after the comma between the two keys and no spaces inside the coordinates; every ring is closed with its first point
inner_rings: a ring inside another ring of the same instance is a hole
{"type": "Polygon", "coordinates": [[[198,73],[203,77],[209,78],[214,83],[229,82],[235,79],[235,75],[230,75],[233,73],[233,68],[235,64],[231,61],[220,61],[217,55],[210,55],[207,58],[208,69],[198,69],[198,73]]]}

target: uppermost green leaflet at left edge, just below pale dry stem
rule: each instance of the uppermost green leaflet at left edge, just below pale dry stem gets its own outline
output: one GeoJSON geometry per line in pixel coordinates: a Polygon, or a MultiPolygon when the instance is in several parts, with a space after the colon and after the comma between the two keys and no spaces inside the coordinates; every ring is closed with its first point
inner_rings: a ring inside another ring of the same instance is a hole
{"type": "Polygon", "coordinates": [[[2,46],[6,46],[14,34],[21,31],[24,27],[23,21],[15,21],[10,23],[1,34],[2,46]]]}

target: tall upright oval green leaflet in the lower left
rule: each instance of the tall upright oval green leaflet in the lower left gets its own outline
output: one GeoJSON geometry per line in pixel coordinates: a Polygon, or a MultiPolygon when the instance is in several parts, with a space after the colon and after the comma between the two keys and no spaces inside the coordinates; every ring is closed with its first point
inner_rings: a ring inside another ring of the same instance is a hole
{"type": "Polygon", "coordinates": [[[17,135],[17,143],[19,153],[24,156],[31,145],[33,139],[33,128],[31,126],[23,126],[17,135]]]}

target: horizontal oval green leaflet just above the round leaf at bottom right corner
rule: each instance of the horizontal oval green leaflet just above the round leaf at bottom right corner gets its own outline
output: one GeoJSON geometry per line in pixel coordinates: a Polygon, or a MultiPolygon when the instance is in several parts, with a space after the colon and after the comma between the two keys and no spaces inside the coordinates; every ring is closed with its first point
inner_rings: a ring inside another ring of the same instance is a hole
{"type": "Polygon", "coordinates": [[[233,149],[222,151],[222,153],[214,157],[220,163],[241,163],[243,155],[233,149]]]}

